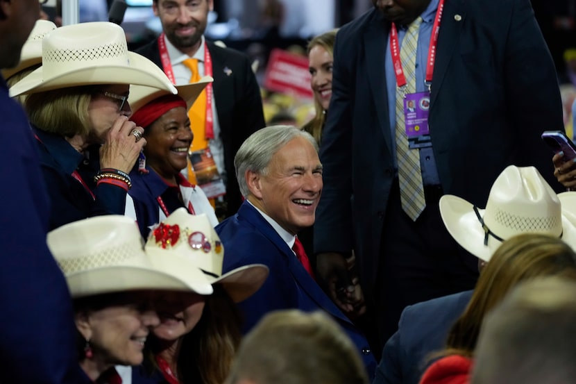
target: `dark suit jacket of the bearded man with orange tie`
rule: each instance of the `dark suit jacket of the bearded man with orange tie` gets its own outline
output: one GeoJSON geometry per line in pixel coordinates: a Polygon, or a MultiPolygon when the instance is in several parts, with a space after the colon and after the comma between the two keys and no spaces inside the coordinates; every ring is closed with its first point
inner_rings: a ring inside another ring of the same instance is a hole
{"type": "MultiPolygon", "coordinates": [[[[242,203],[242,194],[236,181],[234,156],[246,140],[255,131],[266,126],[262,110],[260,87],[252,72],[250,61],[244,53],[222,48],[206,40],[212,57],[212,77],[214,83],[214,101],[220,124],[220,137],[224,147],[224,167],[226,181],[227,216],[234,215],[242,203]],[[225,69],[229,69],[226,70],[225,69]]],[[[137,53],[162,67],[158,39],[136,50],[137,53]]]]}

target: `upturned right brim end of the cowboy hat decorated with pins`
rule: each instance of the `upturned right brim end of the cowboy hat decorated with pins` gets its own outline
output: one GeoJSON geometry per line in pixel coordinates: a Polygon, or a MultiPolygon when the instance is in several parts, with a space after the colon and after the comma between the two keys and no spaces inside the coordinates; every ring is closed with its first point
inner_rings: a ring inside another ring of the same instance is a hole
{"type": "Polygon", "coordinates": [[[255,294],[266,281],[268,274],[269,269],[266,265],[244,265],[212,280],[212,284],[223,285],[232,301],[239,303],[255,294]]]}

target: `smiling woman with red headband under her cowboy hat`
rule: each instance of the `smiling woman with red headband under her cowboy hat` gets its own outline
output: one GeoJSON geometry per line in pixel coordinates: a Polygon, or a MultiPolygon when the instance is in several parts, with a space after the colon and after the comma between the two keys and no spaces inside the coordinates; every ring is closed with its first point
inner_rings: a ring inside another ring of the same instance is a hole
{"type": "Polygon", "coordinates": [[[151,226],[177,208],[186,208],[193,215],[205,213],[212,226],[218,224],[201,187],[180,173],[188,165],[194,138],[187,111],[210,82],[212,78],[205,76],[197,83],[177,85],[178,94],[138,85],[130,88],[130,120],[144,128],[146,147],[144,158],[130,172],[126,215],[136,219],[144,238],[151,226]]]}

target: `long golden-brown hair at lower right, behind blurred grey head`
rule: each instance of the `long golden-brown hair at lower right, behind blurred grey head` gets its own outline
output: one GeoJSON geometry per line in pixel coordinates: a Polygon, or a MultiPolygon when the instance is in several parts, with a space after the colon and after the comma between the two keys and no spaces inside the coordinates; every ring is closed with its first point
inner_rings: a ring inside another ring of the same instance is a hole
{"type": "Polygon", "coordinates": [[[576,254],[562,240],[540,234],[511,237],[482,270],[464,314],[448,335],[448,349],[471,355],[482,320],[520,281],[565,276],[576,281],[576,254]]]}

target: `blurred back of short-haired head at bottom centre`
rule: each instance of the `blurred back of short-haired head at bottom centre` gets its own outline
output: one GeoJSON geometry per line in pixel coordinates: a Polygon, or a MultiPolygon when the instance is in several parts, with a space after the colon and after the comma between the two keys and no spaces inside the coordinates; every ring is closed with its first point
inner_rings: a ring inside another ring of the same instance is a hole
{"type": "Polygon", "coordinates": [[[353,342],[321,312],[271,312],[248,333],[227,384],[366,384],[353,342]]]}

